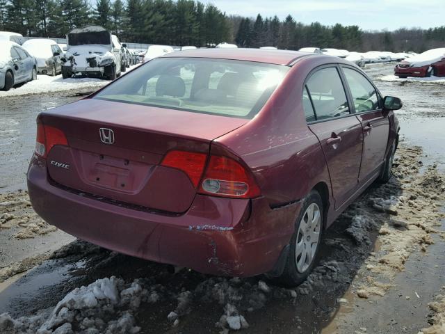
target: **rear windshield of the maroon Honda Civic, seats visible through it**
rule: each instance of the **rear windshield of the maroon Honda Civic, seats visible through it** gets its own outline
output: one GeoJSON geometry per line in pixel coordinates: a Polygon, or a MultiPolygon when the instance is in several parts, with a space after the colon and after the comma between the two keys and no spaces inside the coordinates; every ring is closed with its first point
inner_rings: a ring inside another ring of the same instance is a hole
{"type": "Polygon", "coordinates": [[[253,118],[289,67],[210,58],[156,58],[94,98],[253,118]]]}

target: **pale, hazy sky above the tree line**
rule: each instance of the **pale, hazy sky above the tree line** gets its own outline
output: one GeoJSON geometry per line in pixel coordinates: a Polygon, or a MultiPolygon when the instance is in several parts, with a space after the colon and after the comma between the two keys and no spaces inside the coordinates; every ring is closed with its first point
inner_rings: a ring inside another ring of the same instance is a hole
{"type": "MultiPolygon", "coordinates": [[[[207,1],[202,1],[207,2],[207,1]]],[[[445,25],[445,0],[209,0],[227,15],[291,14],[298,22],[341,23],[363,30],[428,29],[445,25]]]]}

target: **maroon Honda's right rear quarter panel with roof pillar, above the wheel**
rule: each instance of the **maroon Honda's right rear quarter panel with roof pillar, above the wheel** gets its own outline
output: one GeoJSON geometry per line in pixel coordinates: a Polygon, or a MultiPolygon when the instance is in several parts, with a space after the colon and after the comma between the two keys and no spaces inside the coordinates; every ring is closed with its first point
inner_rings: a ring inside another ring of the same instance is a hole
{"type": "Polygon", "coordinates": [[[302,109],[305,78],[325,58],[298,61],[254,119],[216,140],[251,168],[270,207],[304,198],[318,182],[330,189],[321,145],[302,109]]]}

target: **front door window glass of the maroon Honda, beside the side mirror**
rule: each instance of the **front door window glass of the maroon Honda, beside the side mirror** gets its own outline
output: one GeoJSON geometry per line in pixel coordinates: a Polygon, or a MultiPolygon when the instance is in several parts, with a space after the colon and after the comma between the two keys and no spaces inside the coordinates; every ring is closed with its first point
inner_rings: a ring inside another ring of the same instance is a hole
{"type": "Polygon", "coordinates": [[[343,72],[348,82],[350,93],[353,95],[355,111],[362,113],[379,109],[377,92],[368,79],[363,74],[350,68],[343,68],[343,72]]]}

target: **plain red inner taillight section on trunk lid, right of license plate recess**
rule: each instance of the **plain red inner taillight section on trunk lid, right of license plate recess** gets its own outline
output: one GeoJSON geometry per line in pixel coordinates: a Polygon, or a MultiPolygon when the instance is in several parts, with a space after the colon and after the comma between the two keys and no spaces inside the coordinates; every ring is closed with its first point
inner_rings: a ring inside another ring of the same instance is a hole
{"type": "Polygon", "coordinates": [[[162,161],[162,166],[177,168],[188,175],[193,186],[200,182],[207,154],[186,151],[170,151],[162,161]]]}

